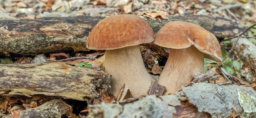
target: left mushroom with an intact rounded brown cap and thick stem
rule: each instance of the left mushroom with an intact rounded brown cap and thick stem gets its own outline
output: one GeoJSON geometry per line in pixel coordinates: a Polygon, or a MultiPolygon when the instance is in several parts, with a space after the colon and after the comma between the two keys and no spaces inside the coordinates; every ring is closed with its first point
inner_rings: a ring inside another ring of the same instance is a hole
{"type": "Polygon", "coordinates": [[[117,96],[125,84],[134,97],[147,95],[153,79],[145,69],[139,45],[153,41],[152,28],[136,15],[115,15],[95,25],[87,48],[106,50],[105,71],[112,75],[110,93],[117,96]]]}

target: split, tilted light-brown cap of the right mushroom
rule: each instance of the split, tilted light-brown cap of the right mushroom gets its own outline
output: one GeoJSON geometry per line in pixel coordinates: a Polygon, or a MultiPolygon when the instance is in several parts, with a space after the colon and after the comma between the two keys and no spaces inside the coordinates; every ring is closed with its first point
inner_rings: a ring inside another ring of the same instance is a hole
{"type": "Polygon", "coordinates": [[[158,31],[154,44],[174,49],[188,48],[194,45],[204,53],[205,58],[222,61],[221,47],[216,37],[193,23],[168,22],[158,31]]]}

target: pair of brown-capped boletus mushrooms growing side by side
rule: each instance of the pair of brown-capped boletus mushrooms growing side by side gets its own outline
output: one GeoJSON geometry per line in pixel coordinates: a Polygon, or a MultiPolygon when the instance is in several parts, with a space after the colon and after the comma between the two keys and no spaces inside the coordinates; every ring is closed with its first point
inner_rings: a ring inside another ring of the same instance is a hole
{"type": "Polygon", "coordinates": [[[105,71],[112,75],[109,90],[117,96],[123,84],[132,96],[147,95],[152,77],[143,63],[139,45],[153,42],[171,48],[166,65],[157,81],[167,92],[176,93],[191,82],[193,73],[204,72],[204,58],[221,62],[221,48],[216,37],[199,25],[171,21],[154,39],[150,25],[141,17],[122,14],[107,17],[90,32],[87,48],[106,50],[105,71]]]}

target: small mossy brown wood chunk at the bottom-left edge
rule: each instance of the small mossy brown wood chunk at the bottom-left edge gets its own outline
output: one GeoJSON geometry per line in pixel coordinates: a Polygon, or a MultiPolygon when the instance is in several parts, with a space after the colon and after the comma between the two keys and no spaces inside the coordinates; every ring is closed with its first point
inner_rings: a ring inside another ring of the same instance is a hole
{"type": "Polygon", "coordinates": [[[60,99],[47,101],[39,107],[20,112],[18,118],[61,118],[62,115],[71,115],[72,107],[60,99]]]}

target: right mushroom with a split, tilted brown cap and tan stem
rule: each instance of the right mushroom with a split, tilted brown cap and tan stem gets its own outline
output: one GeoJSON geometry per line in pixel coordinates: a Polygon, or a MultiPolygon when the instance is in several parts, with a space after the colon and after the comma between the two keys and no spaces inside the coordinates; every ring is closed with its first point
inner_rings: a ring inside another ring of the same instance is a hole
{"type": "Polygon", "coordinates": [[[168,93],[176,93],[191,82],[193,73],[204,73],[204,58],[222,61],[221,47],[216,37],[199,25],[171,21],[157,33],[154,44],[171,48],[158,84],[168,93]]]}

